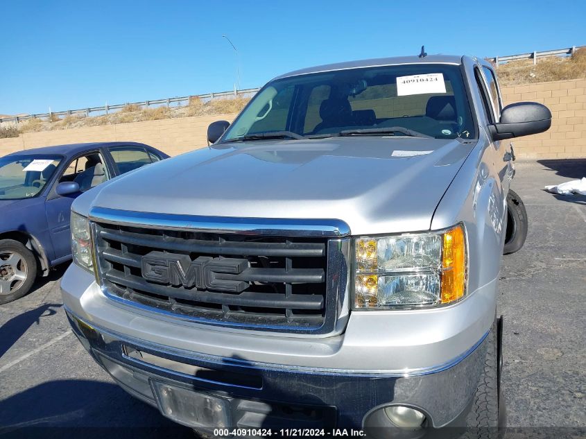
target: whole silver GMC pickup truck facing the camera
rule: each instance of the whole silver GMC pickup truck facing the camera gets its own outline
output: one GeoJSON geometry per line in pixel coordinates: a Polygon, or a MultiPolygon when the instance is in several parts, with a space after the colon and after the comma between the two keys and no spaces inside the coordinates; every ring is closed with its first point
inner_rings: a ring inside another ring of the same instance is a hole
{"type": "Polygon", "coordinates": [[[508,139],[550,125],[469,56],[279,76],[207,148],[77,198],[71,326],[196,431],[490,436],[499,264],[527,232],[508,139]]]}

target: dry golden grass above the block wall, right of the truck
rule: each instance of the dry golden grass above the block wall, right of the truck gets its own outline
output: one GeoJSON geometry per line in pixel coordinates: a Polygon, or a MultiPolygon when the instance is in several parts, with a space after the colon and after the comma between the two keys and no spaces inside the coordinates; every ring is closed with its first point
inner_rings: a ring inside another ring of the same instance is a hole
{"type": "Polygon", "coordinates": [[[578,49],[571,57],[537,58],[535,65],[533,60],[510,61],[499,65],[497,74],[501,87],[586,78],[586,49],[578,49]]]}

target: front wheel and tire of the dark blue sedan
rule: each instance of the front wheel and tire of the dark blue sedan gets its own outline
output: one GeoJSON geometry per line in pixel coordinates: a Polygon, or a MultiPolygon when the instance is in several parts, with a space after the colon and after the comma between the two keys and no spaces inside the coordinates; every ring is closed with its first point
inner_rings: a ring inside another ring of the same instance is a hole
{"type": "Polygon", "coordinates": [[[37,260],[31,250],[14,239],[0,241],[0,304],[12,302],[31,290],[37,260]]]}

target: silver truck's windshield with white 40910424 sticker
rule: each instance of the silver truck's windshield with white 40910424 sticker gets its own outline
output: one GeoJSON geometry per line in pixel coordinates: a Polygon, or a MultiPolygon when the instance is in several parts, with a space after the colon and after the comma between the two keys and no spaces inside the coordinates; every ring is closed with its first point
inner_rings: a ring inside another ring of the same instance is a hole
{"type": "Polygon", "coordinates": [[[333,135],[474,137],[460,67],[404,64],[274,80],[222,141],[333,135]]]}

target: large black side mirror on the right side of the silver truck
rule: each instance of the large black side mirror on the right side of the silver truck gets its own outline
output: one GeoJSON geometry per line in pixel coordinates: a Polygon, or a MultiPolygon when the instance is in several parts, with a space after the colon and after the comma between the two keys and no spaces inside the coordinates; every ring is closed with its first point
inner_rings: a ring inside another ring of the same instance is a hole
{"type": "Polygon", "coordinates": [[[545,105],[536,102],[512,103],[503,108],[501,121],[489,125],[494,140],[521,137],[549,130],[551,112],[545,105]]]}

